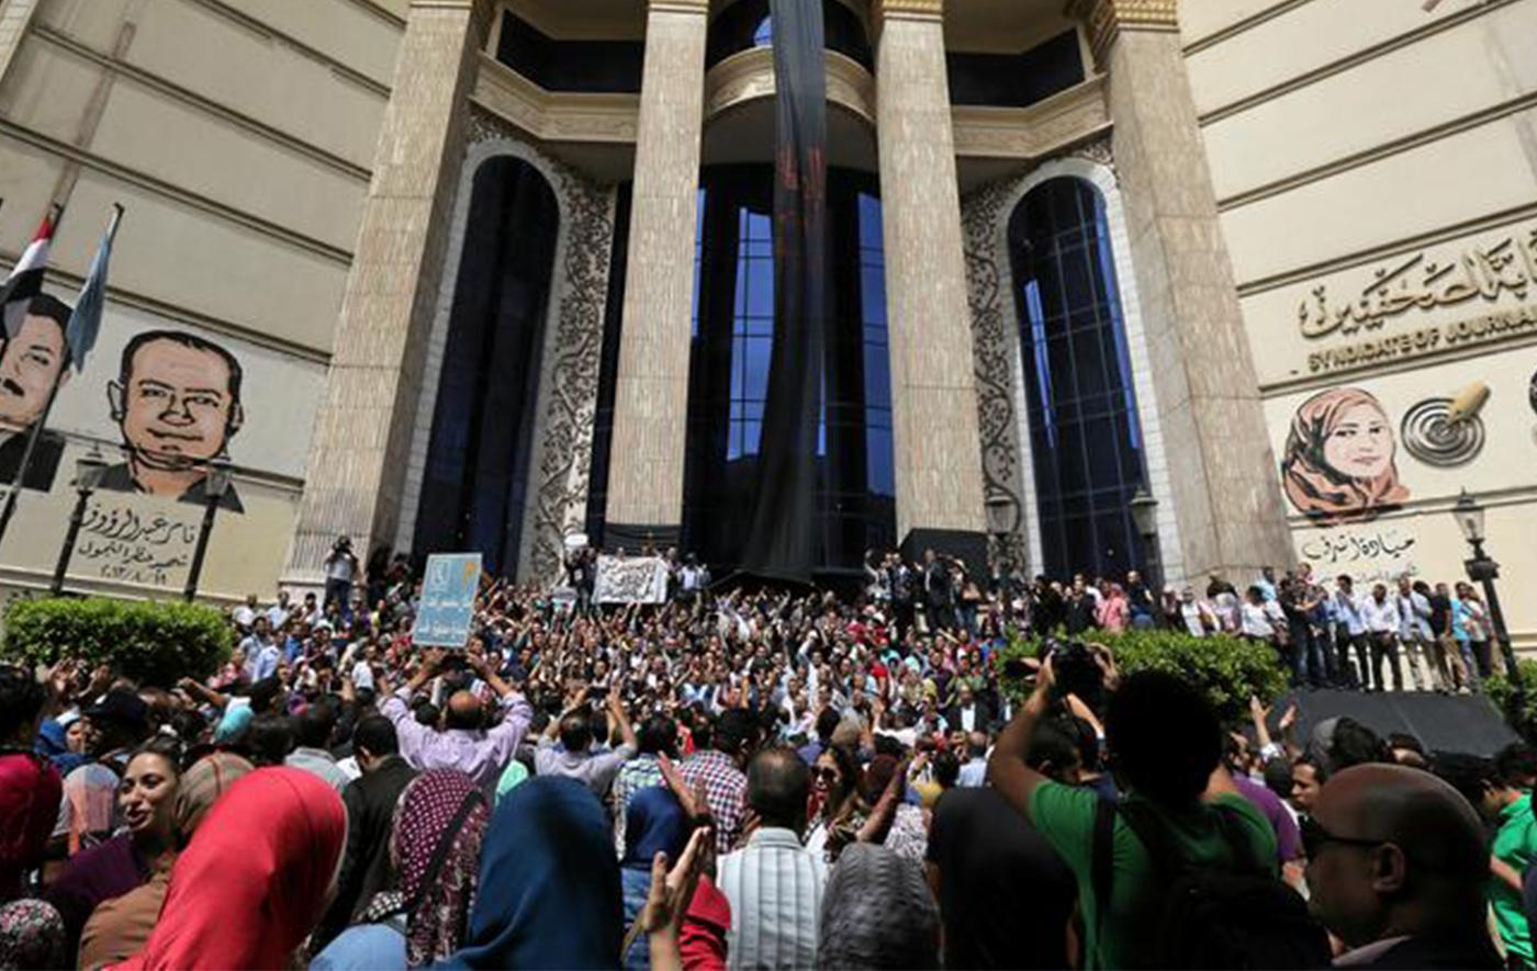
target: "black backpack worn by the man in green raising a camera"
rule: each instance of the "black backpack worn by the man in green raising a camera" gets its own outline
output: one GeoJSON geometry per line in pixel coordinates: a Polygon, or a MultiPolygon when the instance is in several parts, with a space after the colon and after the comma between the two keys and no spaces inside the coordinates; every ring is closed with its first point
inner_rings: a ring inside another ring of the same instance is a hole
{"type": "Polygon", "coordinates": [[[1114,880],[1114,822],[1119,814],[1153,859],[1156,894],[1139,900],[1136,956],[1145,968],[1328,968],[1323,928],[1302,897],[1256,860],[1237,811],[1214,805],[1217,831],[1234,865],[1193,867],[1167,827],[1145,805],[1100,800],[1094,813],[1093,882],[1104,933],[1114,880]]]}

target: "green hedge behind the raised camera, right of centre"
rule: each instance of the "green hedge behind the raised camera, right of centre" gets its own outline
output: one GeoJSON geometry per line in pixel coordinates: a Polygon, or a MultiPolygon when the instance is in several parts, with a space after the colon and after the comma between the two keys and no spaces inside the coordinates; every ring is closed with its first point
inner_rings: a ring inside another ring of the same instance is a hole
{"type": "MultiPolygon", "coordinates": [[[[1193,638],[1174,630],[1093,631],[1084,639],[1110,647],[1122,678],[1137,671],[1170,671],[1199,685],[1225,722],[1247,717],[1250,698],[1271,701],[1286,690],[1286,670],[1270,644],[1222,635],[1193,638]]],[[[1002,656],[1005,662],[1041,658],[1042,650],[1039,639],[1016,638],[1002,656]]],[[[1024,678],[1004,676],[1004,684],[1016,694],[1027,688],[1024,678]]]]}

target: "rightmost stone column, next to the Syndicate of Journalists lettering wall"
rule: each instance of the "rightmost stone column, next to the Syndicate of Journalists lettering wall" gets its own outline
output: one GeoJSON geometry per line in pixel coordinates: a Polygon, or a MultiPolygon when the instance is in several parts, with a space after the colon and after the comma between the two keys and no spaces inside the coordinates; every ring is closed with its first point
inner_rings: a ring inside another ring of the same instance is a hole
{"type": "Polygon", "coordinates": [[[1237,585],[1294,561],[1176,0],[1076,0],[1108,75],[1113,147],[1185,573],[1237,585]]]}

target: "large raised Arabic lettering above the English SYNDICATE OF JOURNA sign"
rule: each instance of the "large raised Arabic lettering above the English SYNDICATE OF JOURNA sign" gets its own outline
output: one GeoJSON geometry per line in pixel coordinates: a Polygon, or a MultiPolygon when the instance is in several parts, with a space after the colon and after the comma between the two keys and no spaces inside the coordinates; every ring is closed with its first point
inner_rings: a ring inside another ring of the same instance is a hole
{"type": "Polygon", "coordinates": [[[1397,264],[1379,266],[1359,295],[1336,300],[1317,286],[1297,307],[1297,327],[1308,340],[1377,330],[1409,310],[1452,307],[1476,298],[1497,301],[1537,295],[1537,227],[1491,246],[1469,246],[1454,260],[1417,252],[1397,264]]]}

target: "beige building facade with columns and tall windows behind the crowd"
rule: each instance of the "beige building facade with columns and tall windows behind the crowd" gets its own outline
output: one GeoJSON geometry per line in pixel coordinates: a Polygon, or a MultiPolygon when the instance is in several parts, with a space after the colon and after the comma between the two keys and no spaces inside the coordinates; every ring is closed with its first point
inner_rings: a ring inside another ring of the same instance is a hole
{"type": "MultiPolygon", "coordinates": [[[[1537,579],[1537,0],[821,5],[827,575],[901,545],[1449,581],[1466,487],[1537,579]]],[[[128,206],[6,584],[46,582],[74,455],[132,449],[143,330],[241,367],[209,595],[314,584],[343,533],[729,570],[773,158],[767,0],[0,0],[0,257],[66,201],[68,297],[128,206]]],[[[71,585],[178,587],[177,498],[92,496],[71,585]]]]}

